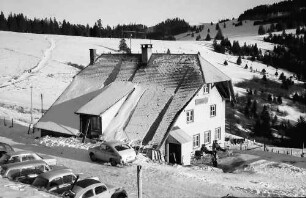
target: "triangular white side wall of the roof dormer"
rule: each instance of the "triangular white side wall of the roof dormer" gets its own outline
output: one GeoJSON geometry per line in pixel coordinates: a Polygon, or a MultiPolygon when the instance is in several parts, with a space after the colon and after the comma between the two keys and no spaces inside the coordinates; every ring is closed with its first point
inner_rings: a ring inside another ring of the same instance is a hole
{"type": "Polygon", "coordinates": [[[109,109],[107,109],[103,114],[101,114],[101,119],[102,119],[102,134],[104,130],[107,128],[107,126],[110,124],[112,119],[115,117],[117,114],[118,110],[126,100],[128,95],[125,97],[121,98],[116,104],[111,106],[109,109]]]}

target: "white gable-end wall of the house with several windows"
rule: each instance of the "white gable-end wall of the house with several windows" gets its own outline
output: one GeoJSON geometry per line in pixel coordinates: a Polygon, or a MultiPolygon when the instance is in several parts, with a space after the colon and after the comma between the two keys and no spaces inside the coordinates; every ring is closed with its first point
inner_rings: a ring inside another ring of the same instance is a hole
{"type": "MultiPolygon", "coordinates": [[[[174,126],[179,126],[182,130],[188,133],[191,137],[195,134],[200,134],[200,146],[204,144],[204,131],[211,131],[211,141],[215,138],[215,129],[221,127],[221,140],[218,140],[221,146],[224,145],[225,138],[225,100],[222,99],[217,88],[210,86],[209,94],[203,93],[203,88],[200,89],[198,94],[190,101],[186,108],[179,115],[174,126]],[[201,104],[195,104],[195,101],[202,99],[201,104]],[[216,116],[210,116],[210,105],[216,104],[216,116]],[[186,110],[194,110],[194,122],[187,123],[186,110]]],[[[193,145],[191,145],[193,147],[193,145]]],[[[199,150],[198,148],[193,148],[199,150]]]]}

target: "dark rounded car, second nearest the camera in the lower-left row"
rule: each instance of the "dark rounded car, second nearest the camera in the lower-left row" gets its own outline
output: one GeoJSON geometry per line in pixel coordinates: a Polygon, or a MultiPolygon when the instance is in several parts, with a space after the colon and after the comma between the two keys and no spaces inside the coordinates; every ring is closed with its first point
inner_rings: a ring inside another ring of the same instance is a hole
{"type": "Polygon", "coordinates": [[[76,178],[71,169],[52,170],[36,177],[32,186],[61,195],[71,188],[76,178]]]}

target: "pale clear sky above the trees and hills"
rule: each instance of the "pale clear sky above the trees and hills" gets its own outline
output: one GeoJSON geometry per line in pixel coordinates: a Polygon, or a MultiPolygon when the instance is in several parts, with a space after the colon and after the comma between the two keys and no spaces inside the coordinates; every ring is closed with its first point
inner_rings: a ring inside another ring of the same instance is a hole
{"type": "Polygon", "coordinates": [[[0,0],[0,11],[7,16],[23,13],[28,18],[53,18],[74,24],[156,25],[179,17],[191,25],[237,18],[243,11],[281,0],[0,0]]]}

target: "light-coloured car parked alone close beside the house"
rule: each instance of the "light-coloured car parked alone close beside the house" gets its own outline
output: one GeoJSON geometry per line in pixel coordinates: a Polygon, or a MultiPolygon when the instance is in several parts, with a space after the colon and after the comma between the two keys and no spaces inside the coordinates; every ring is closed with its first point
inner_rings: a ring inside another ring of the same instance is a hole
{"type": "Polygon", "coordinates": [[[132,162],[136,159],[135,150],[120,141],[103,142],[100,146],[89,149],[92,161],[110,162],[112,166],[132,162]]]}

